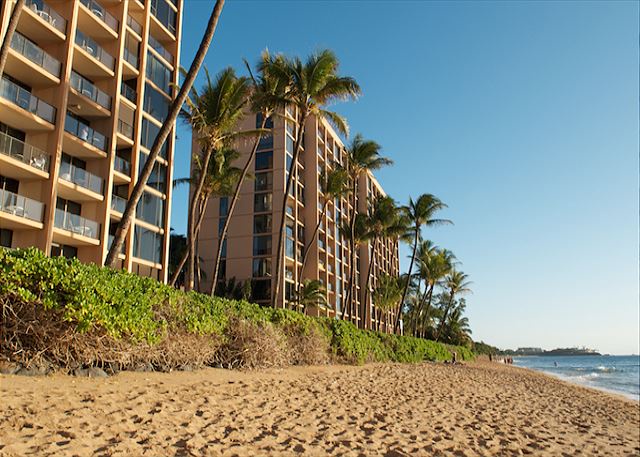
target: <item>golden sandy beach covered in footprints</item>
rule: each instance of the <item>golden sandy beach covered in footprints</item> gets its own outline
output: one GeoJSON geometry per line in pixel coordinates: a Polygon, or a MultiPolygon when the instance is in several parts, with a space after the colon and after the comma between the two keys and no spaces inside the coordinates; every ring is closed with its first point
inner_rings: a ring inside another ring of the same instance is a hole
{"type": "Polygon", "coordinates": [[[488,362],[0,376],[0,455],[640,455],[640,406],[488,362]]]}

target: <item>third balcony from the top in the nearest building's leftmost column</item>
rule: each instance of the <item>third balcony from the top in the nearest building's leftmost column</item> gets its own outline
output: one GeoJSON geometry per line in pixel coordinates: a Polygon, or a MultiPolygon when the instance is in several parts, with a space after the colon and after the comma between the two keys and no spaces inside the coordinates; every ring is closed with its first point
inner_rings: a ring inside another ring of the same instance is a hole
{"type": "Polygon", "coordinates": [[[0,120],[3,122],[24,131],[53,130],[56,109],[28,90],[2,78],[0,98],[0,120]]]}

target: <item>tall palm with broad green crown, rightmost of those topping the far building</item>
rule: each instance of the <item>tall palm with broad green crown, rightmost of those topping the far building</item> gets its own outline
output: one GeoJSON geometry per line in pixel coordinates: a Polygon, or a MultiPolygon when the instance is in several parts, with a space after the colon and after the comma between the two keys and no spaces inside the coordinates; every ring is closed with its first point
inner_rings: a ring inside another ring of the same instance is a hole
{"type": "Polygon", "coordinates": [[[334,127],[345,135],[348,134],[346,120],[325,106],[340,100],[355,99],[360,94],[360,86],[353,78],[338,75],[338,59],[329,50],[312,54],[303,63],[299,58],[281,57],[267,64],[270,74],[281,79],[287,87],[282,101],[297,108],[297,137],[293,148],[293,160],[288,170],[287,185],[284,189],[280,224],[278,225],[278,243],[276,251],[276,272],[274,276],[272,305],[275,306],[280,291],[284,264],[284,229],[287,212],[288,195],[297,170],[298,156],[302,150],[304,126],[309,116],[327,119],[334,127]]]}

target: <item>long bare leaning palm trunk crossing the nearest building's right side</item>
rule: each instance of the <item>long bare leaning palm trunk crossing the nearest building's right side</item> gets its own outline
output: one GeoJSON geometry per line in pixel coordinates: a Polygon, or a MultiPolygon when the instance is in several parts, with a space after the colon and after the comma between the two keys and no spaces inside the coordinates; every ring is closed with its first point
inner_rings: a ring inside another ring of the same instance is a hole
{"type": "Polygon", "coordinates": [[[156,159],[160,154],[160,149],[167,141],[169,133],[176,123],[176,119],[178,118],[178,114],[180,114],[182,105],[186,101],[187,96],[189,95],[189,91],[193,87],[193,83],[198,76],[198,72],[200,71],[202,62],[204,62],[204,58],[207,55],[209,46],[211,45],[211,41],[213,41],[213,35],[216,31],[216,26],[218,25],[220,14],[222,13],[224,1],[225,0],[216,0],[216,4],[213,7],[211,16],[209,17],[209,23],[207,24],[207,29],[205,30],[205,33],[202,37],[202,41],[200,42],[200,46],[198,47],[196,56],[194,57],[193,62],[191,62],[191,67],[189,67],[189,71],[187,72],[184,82],[182,83],[182,86],[178,91],[178,95],[173,100],[173,102],[171,102],[167,118],[160,128],[158,136],[156,136],[156,139],[153,142],[151,151],[149,151],[147,162],[142,168],[142,172],[140,173],[140,176],[138,176],[138,180],[133,188],[133,192],[131,192],[131,196],[127,201],[127,207],[125,208],[122,219],[118,224],[113,243],[111,244],[111,248],[109,249],[107,257],[104,261],[105,266],[114,268],[116,265],[118,253],[122,249],[124,238],[129,230],[129,227],[131,226],[131,222],[133,221],[133,213],[135,212],[136,206],[138,205],[138,202],[142,197],[144,187],[147,185],[147,181],[149,181],[149,177],[151,176],[151,172],[153,171],[153,166],[155,165],[156,159]]]}

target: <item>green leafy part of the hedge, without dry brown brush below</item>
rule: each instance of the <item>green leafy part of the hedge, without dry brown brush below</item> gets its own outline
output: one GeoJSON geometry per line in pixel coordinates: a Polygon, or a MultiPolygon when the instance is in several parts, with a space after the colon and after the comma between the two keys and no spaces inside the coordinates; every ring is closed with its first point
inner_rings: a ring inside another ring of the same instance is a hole
{"type": "Polygon", "coordinates": [[[335,355],[354,363],[442,361],[463,347],[360,330],[350,322],[313,318],[245,301],[185,293],[150,278],[48,257],[30,249],[0,249],[0,299],[35,303],[58,313],[79,332],[102,328],[115,339],[155,344],[168,332],[224,337],[233,318],[325,335],[335,355]]]}

